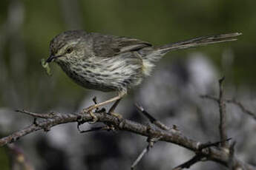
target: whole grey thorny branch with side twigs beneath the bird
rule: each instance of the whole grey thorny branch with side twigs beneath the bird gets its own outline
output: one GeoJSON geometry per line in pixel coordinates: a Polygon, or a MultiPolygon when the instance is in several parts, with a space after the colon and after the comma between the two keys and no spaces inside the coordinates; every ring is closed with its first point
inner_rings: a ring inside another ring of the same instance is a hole
{"type": "MultiPolygon", "coordinates": [[[[223,103],[234,103],[239,106],[243,112],[246,112],[249,114],[249,111],[239,102],[234,102],[229,100],[226,100],[223,98],[223,89],[221,86],[222,81],[220,81],[220,98],[214,98],[208,95],[201,96],[202,98],[210,98],[214,101],[217,101],[219,103],[219,109],[220,109],[220,119],[223,116],[222,114],[226,114],[225,108],[223,108],[223,103]]],[[[225,106],[225,105],[224,105],[225,106]]],[[[172,128],[165,126],[163,123],[161,123],[159,120],[154,118],[152,115],[149,115],[148,112],[145,111],[145,109],[142,108],[142,106],[137,105],[137,108],[142,112],[143,115],[145,115],[151,123],[153,123],[155,126],[148,126],[142,123],[137,123],[128,119],[122,119],[116,118],[113,115],[109,115],[106,112],[96,112],[94,115],[98,118],[98,122],[105,123],[106,126],[90,129],[87,132],[96,131],[96,130],[118,130],[118,131],[128,131],[135,133],[137,135],[142,135],[145,137],[148,137],[148,146],[142,151],[142,153],[137,157],[137,160],[134,161],[133,165],[131,166],[131,169],[134,169],[134,167],[137,165],[137,163],[140,162],[143,155],[149,151],[158,140],[165,141],[168,143],[174,143],[179,146],[183,146],[186,149],[191,150],[194,152],[194,157],[191,158],[191,160],[186,161],[185,163],[181,164],[180,166],[175,167],[174,169],[187,169],[190,166],[194,165],[194,163],[197,163],[201,160],[211,160],[216,163],[220,163],[223,166],[229,167],[229,169],[256,169],[256,167],[249,165],[248,163],[243,163],[243,161],[239,160],[235,153],[234,153],[234,143],[231,145],[228,145],[227,135],[223,135],[222,139],[215,143],[201,143],[199,141],[193,140],[189,137],[186,137],[186,135],[183,135],[182,132],[178,131],[176,129],[176,126],[173,126],[172,128]],[[223,143],[226,143],[225,146],[223,146],[223,143]]],[[[44,130],[45,132],[49,131],[51,127],[57,126],[59,124],[63,123],[78,123],[79,125],[82,123],[88,123],[93,118],[91,115],[85,113],[85,112],[79,112],[79,113],[71,113],[71,114],[60,114],[60,113],[45,113],[45,114],[39,114],[34,112],[27,112],[25,110],[18,110],[17,112],[30,115],[34,118],[33,123],[30,126],[25,127],[24,129],[21,129],[17,132],[13,132],[13,134],[8,135],[7,137],[2,137],[0,139],[0,146],[7,145],[8,143],[13,143],[16,140],[18,140],[20,137],[23,137],[25,135],[28,135],[30,133],[44,130]],[[37,120],[39,119],[39,120],[37,120]]],[[[252,112],[250,112],[252,113],[252,112]]],[[[249,115],[254,115],[249,114],[249,115]]],[[[224,115],[226,116],[226,115],[224,115]]],[[[226,119],[222,118],[222,121],[220,121],[220,129],[221,131],[226,131],[226,127],[223,126],[222,123],[226,123],[226,119]]],[[[220,131],[220,132],[221,132],[220,131]]]]}

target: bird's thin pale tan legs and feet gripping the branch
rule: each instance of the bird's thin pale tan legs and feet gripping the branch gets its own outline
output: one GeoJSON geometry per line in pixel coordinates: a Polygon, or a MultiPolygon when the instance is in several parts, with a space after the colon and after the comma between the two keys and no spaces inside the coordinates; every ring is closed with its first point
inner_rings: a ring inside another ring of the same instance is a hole
{"type": "MultiPolygon", "coordinates": [[[[99,106],[104,106],[104,105],[106,105],[106,104],[108,104],[108,103],[111,103],[111,102],[113,102],[113,101],[118,101],[118,100],[120,100],[125,94],[126,94],[126,92],[119,92],[119,94],[118,94],[116,97],[111,98],[111,99],[108,99],[108,101],[103,101],[102,103],[96,103],[96,104],[94,104],[94,105],[92,105],[92,106],[89,106],[88,108],[84,109],[83,112],[88,112],[88,113],[91,115],[91,117],[93,117],[93,123],[95,123],[95,122],[98,120],[98,118],[96,118],[96,115],[93,114],[93,112],[92,112],[93,109],[96,109],[96,108],[99,107],[99,106]]],[[[113,109],[110,109],[110,110],[113,110],[113,111],[114,111],[114,109],[116,108],[116,106],[117,106],[118,103],[119,103],[119,101],[116,102],[116,103],[114,103],[113,106],[111,106],[111,108],[113,107],[113,109]]]]}

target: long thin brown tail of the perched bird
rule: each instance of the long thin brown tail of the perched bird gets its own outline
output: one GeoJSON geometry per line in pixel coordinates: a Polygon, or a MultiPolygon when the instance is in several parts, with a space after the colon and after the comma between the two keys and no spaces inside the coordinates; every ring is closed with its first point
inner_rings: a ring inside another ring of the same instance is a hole
{"type": "Polygon", "coordinates": [[[156,47],[156,50],[161,52],[168,52],[172,50],[181,50],[191,47],[204,46],[208,44],[221,43],[226,41],[236,41],[237,36],[242,35],[242,33],[229,33],[229,34],[220,34],[220,35],[208,35],[198,38],[192,38],[187,41],[180,41],[173,44],[166,44],[160,47],[156,47]]]}

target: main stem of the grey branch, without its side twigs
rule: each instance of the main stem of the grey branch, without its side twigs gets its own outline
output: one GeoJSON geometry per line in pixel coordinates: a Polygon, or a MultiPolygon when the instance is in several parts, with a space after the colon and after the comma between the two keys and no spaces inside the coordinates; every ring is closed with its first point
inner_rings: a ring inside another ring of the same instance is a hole
{"type": "MultiPolygon", "coordinates": [[[[36,120],[33,124],[30,126],[25,127],[22,130],[19,130],[17,132],[13,132],[13,134],[8,135],[7,137],[3,137],[0,139],[0,146],[4,146],[7,143],[13,143],[16,140],[18,140],[20,137],[23,137],[25,135],[28,135],[30,133],[44,130],[49,131],[51,127],[57,126],[59,124],[63,123],[86,123],[93,118],[91,118],[91,115],[85,114],[83,112],[81,113],[73,113],[73,114],[37,114],[33,112],[26,112],[21,111],[22,113],[25,113],[27,115],[30,115],[34,118],[44,118],[43,120],[36,120]]],[[[199,141],[193,140],[189,137],[186,137],[181,132],[178,132],[176,130],[174,131],[167,131],[160,129],[158,127],[151,127],[148,129],[147,125],[144,125],[142,123],[137,123],[131,120],[123,119],[120,121],[118,118],[108,115],[105,113],[95,113],[96,117],[99,119],[99,122],[105,123],[105,124],[111,124],[119,131],[128,131],[135,133],[137,135],[142,135],[145,137],[151,137],[151,138],[159,138],[161,141],[165,141],[168,143],[174,143],[179,146],[183,146],[186,149],[191,150],[195,153],[200,153],[203,157],[206,157],[207,160],[212,160],[216,163],[220,163],[223,166],[229,167],[230,164],[230,156],[229,152],[226,152],[223,149],[219,149],[218,147],[209,147],[202,149],[202,145],[204,143],[200,143],[199,141]]],[[[255,167],[250,166],[247,163],[243,163],[243,161],[237,159],[235,155],[232,156],[233,161],[232,164],[234,167],[240,167],[241,169],[255,169],[255,167]]]]}

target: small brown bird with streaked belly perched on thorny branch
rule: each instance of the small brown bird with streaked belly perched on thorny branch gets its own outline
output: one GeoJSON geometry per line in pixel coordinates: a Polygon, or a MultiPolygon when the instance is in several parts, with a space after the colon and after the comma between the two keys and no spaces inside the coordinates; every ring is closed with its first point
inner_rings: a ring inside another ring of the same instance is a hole
{"type": "Polygon", "coordinates": [[[154,64],[167,52],[235,41],[238,35],[241,33],[209,35],[154,47],[136,38],[70,30],[50,41],[50,57],[46,62],[55,61],[80,86],[118,92],[116,97],[85,110],[95,118],[91,112],[93,109],[115,101],[109,111],[114,112],[128,89],[139,85],[150,75],[154,64]]]}

